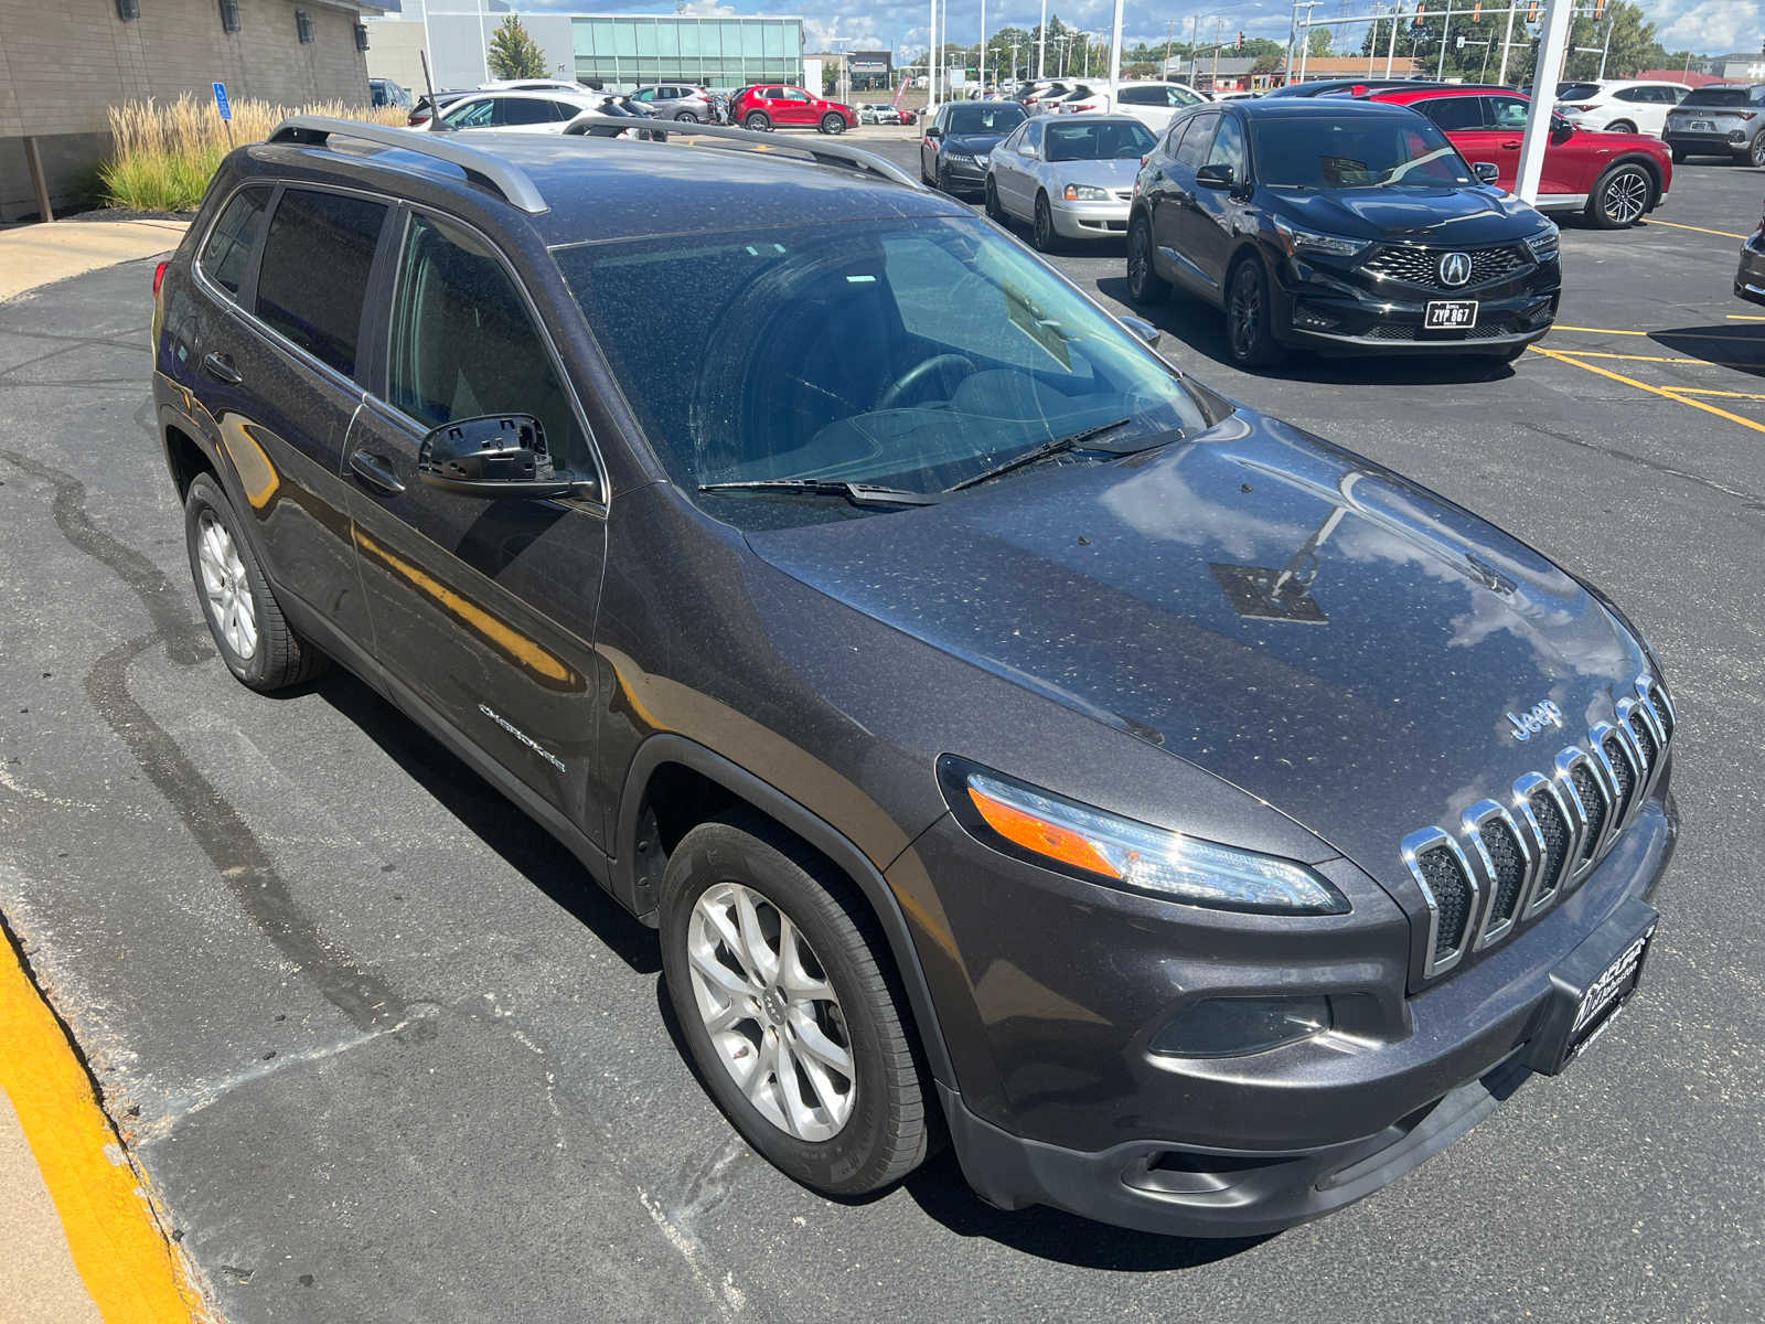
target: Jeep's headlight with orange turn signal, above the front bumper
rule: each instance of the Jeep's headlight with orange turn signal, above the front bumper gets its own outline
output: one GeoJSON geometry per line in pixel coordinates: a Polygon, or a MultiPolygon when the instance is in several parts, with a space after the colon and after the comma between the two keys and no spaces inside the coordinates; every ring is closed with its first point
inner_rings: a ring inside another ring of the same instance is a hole
{"type": "Polygon", "coordinates": [[[976,840],[1043,869],[1221,911],[1348,913],[1347,897],[1292,860],[1105,814],[950,756],[937,771],[976,840]]]}

